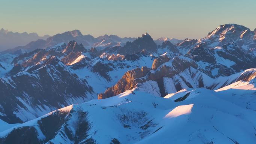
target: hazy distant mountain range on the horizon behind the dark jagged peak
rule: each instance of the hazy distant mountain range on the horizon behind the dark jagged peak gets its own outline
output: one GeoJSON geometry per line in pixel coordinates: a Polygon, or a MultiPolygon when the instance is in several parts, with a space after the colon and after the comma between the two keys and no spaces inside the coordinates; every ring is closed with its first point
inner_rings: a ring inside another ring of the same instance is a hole
{"type": "MultiPolygon", "coordinates": [[[[2,30],[3,32],[0,33],[5,33],[4,31],[6,30],[2,30]]],[[[7,33],[7,32],[6,32],[7,33]]],[[[12,32],[8,32],[8,33],[12,33],[12,32]]],[[[16,35],[20,35],[19,33],[12,33],[12,34],[16,34],[16,35]]],[[[25,33],[23,33],[25,34],[25,33]]],[[[31,33],[29,35],[35,35],[37,36],[36,33],[31,33]]],[[[5,36],[5,35],[3,35],[5,36]]],[[[107,47],[113,47],[113,46],[124,46],[127,42],[132,42],[135,40],[135,38],[131,38],[131,37],[118,37],[115,35],[104,35],[104,36],[99,36],[94,38],[91,35],[83,35],[79,30],[73,30],[73,31],[67,31],[61,34],[56,34],[52,37],[39,37],[37,39],[37,37],[34,36],[35,40],[31,40],[29,41],[30,43],[26,42],[25,44],[16,46],[16,47],[12,47],[11,49],[8,47],[7,50],[4,50],[1,53],[14,53],[14,54],[21,54],[21,53],[25,53],[25,52],[30,52],[33,51],[35,49],[47,49],[47,48],[51,48],[54,45],[57,45],[58,43],[68,43],[70,40],[75,40],[77,43],[82,43],[82,45],[86,48],[86,49],[90,49],[90,48],[97,48],[98,50],[102,50],[104,48],[107,47]],[[46,39],[47,38],[47,39],[46,39]]],[[[16,37],[16,36],[15,36],[16,37]]],[[[9,38],[7,35],[5,37],[5,39],[8,39],[6,41],[6,43],[10,43],[10,45],[13,43],[13,41],[16,41],[14,39],[9,38]]],[[[24,38],[25,39],[25,36],[24,38]]],[[[177,40],[177,39],[168,39],[168,38],[160,38],[155,40],[155,42],[157,44],[162,44],[162,42],[170,40],[171,43],[173,43],[174,45],[176,45],[178,42],[182,42],[182,40],[177,40]]],[[[2,46],[4,47],[4,45],[2,46]]]]}

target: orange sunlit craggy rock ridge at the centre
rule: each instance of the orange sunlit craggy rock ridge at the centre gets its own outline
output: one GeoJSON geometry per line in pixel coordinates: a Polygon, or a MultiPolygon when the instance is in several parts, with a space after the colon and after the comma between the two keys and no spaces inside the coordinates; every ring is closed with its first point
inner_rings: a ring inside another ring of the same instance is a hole
{"type": "Polygon", "coordinates": [[[134,88],[137,83],[145,81],[138,78],[146,76],[149,70],[150,69],[147,67],[142,67],[127,71],[124,76],[116,83],[116,85],[107,89],[104,93],[99,94],[98,99],[109,98],[111,96],[121,94],[127,89],[134,88]]]}

